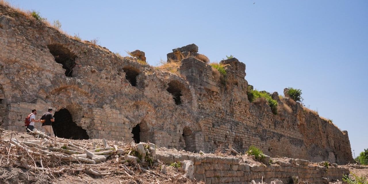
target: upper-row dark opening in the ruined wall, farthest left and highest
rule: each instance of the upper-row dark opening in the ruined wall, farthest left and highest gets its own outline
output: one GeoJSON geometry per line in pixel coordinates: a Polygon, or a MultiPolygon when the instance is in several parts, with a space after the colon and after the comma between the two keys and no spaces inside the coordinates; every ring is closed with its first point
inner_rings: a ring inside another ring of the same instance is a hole
{"type": "Polygon", "coordinates": [[[66,70],[65,75],[67,77],[72,77],[73,68],[75,66],[75,54],[71,53],[69,49],[65,48],[61,44],[51,44],[47,45],[50,53],[54,56],[56,63],[63,65],[66,70]]]}

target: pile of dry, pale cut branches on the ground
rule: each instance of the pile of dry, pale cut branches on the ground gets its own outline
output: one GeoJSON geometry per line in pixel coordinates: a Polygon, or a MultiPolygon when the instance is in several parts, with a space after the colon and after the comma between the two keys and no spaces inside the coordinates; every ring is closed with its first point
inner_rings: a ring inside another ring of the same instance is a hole
{"type": "Polygon", "coordinates": [[[50,137],[36,129],[29,134],[35,138],[0,140],[0,167],[22,167],[53,178],[74,173],[95,176],[116,174],[133,178],[135,173],[140,172],[164,177],[149,168],[155,160],[155,145],[152,143],[132,142],[126,145],[105,139],[101,142],[74,141],[50,137]]]}

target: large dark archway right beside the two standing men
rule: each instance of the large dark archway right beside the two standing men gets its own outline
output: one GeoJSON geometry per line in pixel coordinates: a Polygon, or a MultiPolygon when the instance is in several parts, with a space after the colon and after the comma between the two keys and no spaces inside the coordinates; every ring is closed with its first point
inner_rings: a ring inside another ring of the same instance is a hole
{"type": "Polygon", "coordinates": [[[54,134],[60,138],[67,139],[89,139],[87,131],[79,127],[72,120],[67,109],[60,109],[54,114],[55,121],[52,123],[54,134]]]}

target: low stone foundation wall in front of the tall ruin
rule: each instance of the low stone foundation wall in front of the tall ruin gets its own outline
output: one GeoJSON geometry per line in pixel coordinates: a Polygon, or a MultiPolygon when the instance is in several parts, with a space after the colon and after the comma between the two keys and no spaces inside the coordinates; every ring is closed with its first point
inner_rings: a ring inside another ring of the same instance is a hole
{"type": "Polygon", "coordinates": [[[341,180],[343,174],[348,174],[347,167],[330,166],[328,169],[316,163],[301,159],[277,159],[275,164],[254,165],[244,163],[236,157],[220,157],[214,155],[194,155],[190,153],[165,153],[157,151],[157,158],[171,164],[183,160],[194,162],[194,177],[207,184],[231,183],[243,184],[255,180],[270,183],[275,179],[283,183],[293,183],[293,176],[307,180],[313,184],[322,184],[330,180],[341,180]]]}

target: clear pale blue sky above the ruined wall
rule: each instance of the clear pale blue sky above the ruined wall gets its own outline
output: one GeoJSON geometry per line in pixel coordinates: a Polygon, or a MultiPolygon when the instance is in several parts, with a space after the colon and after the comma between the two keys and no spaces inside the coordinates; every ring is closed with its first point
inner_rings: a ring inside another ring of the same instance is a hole
{"type": "Polygon", "coordinates": [[[211,61],[232,54],[256,89],[302,89],[307,107],[348,131],[355,156],[368,148],[367,0],[8,1],[112,52],[142,50],[152,66],[191,43],[211,61]]]}

